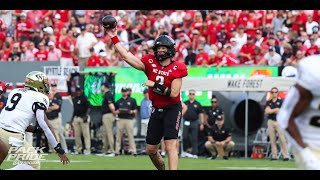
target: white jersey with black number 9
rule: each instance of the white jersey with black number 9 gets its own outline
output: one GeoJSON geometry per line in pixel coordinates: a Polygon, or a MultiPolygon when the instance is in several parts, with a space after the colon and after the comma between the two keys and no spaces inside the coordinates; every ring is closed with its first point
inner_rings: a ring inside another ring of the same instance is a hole
{"type": "Polygon", "coordinates": [[[49,98],[44,94],[25,88],[12,90],[8,95],[7,105],[0,114],[0,127],[25,133],[39,106],[48,109],[49,98]]]}

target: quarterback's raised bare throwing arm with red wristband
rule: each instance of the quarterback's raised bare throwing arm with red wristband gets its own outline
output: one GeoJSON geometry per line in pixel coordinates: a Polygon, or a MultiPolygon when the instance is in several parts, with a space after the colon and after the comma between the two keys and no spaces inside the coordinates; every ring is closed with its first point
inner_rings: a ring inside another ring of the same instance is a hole
{"type": "Polygon", "coordinates": [[[120,53],[120,55],[124,58],[124,60],[130,64],[132,67],[144,71],[145,66],[142,63],[142,61],[135,57],[133,54],[128,53],[128,51],[121,45],[120,40],[117,36],[117,27],[114,29],[106,29],[106,32],[108,36],[111,38],[112,43],[116,47],[117,51],[120,53]]]}

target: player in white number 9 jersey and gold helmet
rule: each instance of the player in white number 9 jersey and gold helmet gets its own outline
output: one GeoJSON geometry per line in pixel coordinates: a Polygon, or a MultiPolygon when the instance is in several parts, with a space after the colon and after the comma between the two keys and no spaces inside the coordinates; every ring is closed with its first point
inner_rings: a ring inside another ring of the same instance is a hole
{"type": "MultiPolygon", "coordinates": [[[[25,141],[25,132],[27,128],[30,128],[32,119],[36,118],[49,143],[55,147],[61,162],[63,164],[69,163],[61,144],[56,141],[45,115],[49,105],[48,93],[48,78],[39,71],[32,71],[26,76],[25,88],[17,88],[9,93],[7,105],[0,114],[0,139],[2,142],[0,149],[6,151],[0,154],[8,153],[9,150],[9,153],[19,154],[22,150],[15,150],[20,148],[28,150],[23,151],[24,154],[36,154],[37,152],[32,145],[25,141]]],[[[40,169],[40,162],[37,158],[26,160],[20,156],[20,159],[16,160],[22,163],[11,169],[40,169]]]]}

